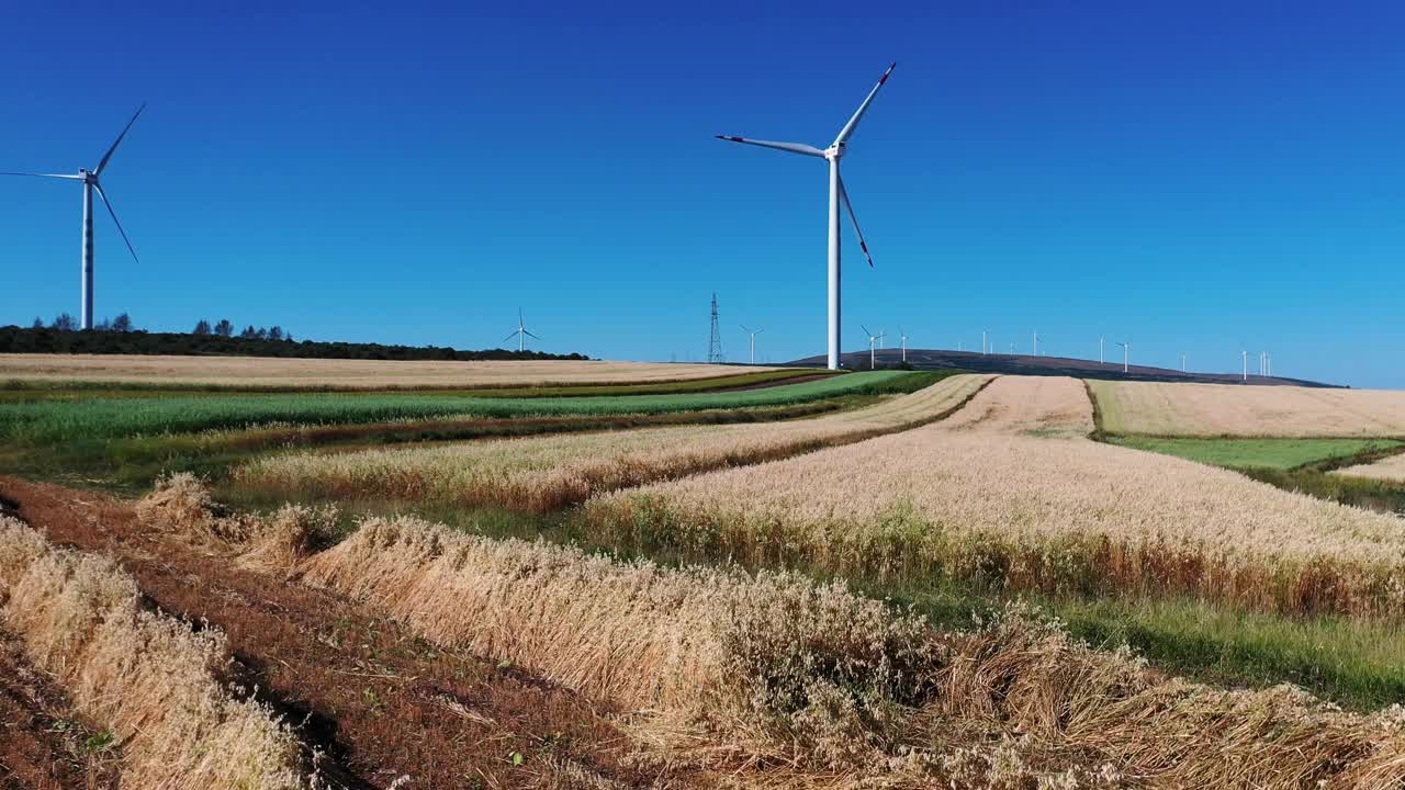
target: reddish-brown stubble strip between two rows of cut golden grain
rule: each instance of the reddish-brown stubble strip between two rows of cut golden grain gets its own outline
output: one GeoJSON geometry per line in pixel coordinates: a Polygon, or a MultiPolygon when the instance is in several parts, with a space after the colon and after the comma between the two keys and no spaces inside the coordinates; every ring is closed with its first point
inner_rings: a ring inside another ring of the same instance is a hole
{"type": "Polygon", "coordinates": [[[698,783],[635,765],[611,711],[579,694],[153,534],[122,500],[10,477],[0,498],[51,540],[117,557],[163,610],[225,631],[239,680],[325,752],[322,770],[337,784],[538,786],[562,763],[624,786],[698,783]]]}

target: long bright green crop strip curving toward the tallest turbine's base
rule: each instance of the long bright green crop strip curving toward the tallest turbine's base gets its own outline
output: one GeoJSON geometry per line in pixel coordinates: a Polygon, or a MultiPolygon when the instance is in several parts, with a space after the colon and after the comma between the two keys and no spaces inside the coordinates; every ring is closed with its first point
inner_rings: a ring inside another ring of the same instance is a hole
{"type": "Polygon", "coordinates": [[[3,403],[0,437],[20,441],[114,439],[271,423],[347,425],[443,417],[660,415],[805,403],[842,395],[903,392],[933,381],[905,371],[856,373],[802,384],[686,395],[592,398],[465,398],[445,395],[230,395],[222,398],[93,399],[3,403]]]}

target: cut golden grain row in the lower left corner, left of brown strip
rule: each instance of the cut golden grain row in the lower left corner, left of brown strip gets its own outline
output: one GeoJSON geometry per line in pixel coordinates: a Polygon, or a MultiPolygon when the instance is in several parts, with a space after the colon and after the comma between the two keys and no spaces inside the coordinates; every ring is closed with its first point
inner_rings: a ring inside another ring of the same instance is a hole
{"type": "Polygon", "coordinates": [[[89,718],[122,745],[122,784],[152,789],[303,787],[296,739],[218,679],[218,631],[145,610],[110,559],[53,548],[0,516],[0,617],[89,718]]]}

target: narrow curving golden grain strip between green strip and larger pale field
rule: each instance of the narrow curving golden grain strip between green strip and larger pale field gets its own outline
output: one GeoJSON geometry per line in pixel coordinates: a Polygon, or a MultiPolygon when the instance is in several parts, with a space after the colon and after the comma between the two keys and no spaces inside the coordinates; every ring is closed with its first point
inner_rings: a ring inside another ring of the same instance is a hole
{"type": "MultiPolygon", "coordinates": [[[[797,422],[274,455],[242,467],[236,479],[288,495],[438,499],[547,512],[603,491],[784,458],[909,429],[948,413],[989,380],[957,375],[865,409],[797,422]]],[[[1087,412],[1086,398],[1082,401],[1087,412]]],[[[1092,430],[1090,419],[1085,433],[1092,430]]]]}

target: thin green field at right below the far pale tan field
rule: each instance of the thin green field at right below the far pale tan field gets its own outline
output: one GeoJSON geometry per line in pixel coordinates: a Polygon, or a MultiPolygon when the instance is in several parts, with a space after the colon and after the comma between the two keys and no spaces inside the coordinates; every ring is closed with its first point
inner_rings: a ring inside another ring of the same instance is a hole
{"type": "MultiPolygon", "coordinates": [[[[1291,470],[1332,458],[1402,447],[1390,439],[1165,439],[1113,436],[1110,444],[1177,455],[1234,470],[1291,470]]],[[[1405,467],[1401,470],[1405,477],[1405,467]]]]}

